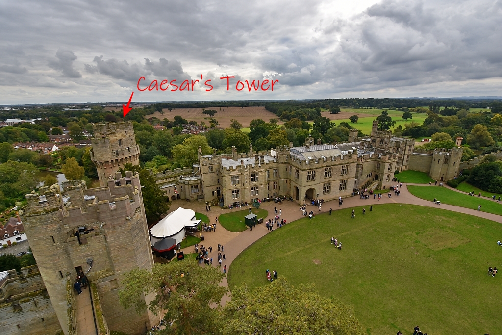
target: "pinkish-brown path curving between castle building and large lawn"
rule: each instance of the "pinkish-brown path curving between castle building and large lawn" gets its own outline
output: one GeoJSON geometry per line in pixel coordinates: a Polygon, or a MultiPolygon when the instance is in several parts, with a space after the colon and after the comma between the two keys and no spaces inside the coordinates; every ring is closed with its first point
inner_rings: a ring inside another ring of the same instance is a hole
{"type": "MultiPolygon", "coordinates": [[[[409,184],[409,185],[416,185],[416,186],[427,186],[427,187],[441,187],[441,186],[428,186],[427,184],[409,184]]],[[[444,187],[444,186],[443,186],[444,187]]],[[[455,191],[461,192],[459,190],[453,189],[455,191]]],[[[338,205],[338,200],[331,200],[324,202],[324,204],[321,207],[321,213],[328,212],[330,207],[333,210],[338,210],[338,209],[344,209],[344,208],[351,208],[351,207],[356,207],[356,206],[367,206],[366,209],[370,205],[378,205],[381,203],[407,203],[407,204],[414,204],[414,205],[419,205],[419,206],[427,206],[427,207],[434,207],[434,208],[441,208],[445,210],[451,210],[459,213],[465,213],[465,214],[470,214],[473,216],[478,216],[478,217],[483,217],[487,218],[496,222],[502,223],[502,216],[491,214],[491,213],[486,213],[483,211],[477,211],[475,209],[469,209],[469,208],[464,208],[464,207],[458,207],[458,206],[453,206],[453,205],[448,205],[448,204],[441,204],[441,205],[436,205],[435,203],[428,200],[424,200],[421,198],[418,198],[411,194],[408,191],[407,184],[403,183],[403,186],[400,187],[400,195],[396,196],[394,192],[391,192],[392,197],[388,197],[388,193],[383,193],[382,194],[382,199],[379,201],[378,198],[373,199],[372,196],[370,196],[369,199],[360,199],[359,196],[354,196],[354,197],[348,197],[343,199],[343,204],[341,206],[338,205]]],[[[464,192],[461,192],[464,193],[464,192]]],[[[464,193],[465,194],[465,193],[464,193]]],[[[171,209],[177,209],[179,206],[182,207],[189,207],[191,209],[194,209],[195,211],[198,212],[205,212],[204,208],[204,202],[191,202],[191,203],[186,203],[182,202],[181,200],[176,200],[173,205],[171,206],[171,209]],[[200,208],[199,208],[200,207],[200,208]]],[[[264,202],[260,206],[261,209],[266,209],[269,212],[269,215],[264,218],[265,221],[268,218],[271,218],[274,215],[274,207],[277,207],[277,209],[282,210],[282,215],[281,218],[284,218],[287,220],[287,222],[292,222],[294,220],[297,220],[299,218],[302,218],[303,215],[301,213],[300,206],[296,202],[293,201],[285,201],[283,203],[275,203],[275,202],[264,202]]],[[[237,209],[239,210],[239,209],[237,209]]],[[[319,213],[319,210],[317,207],[314,207],[312,205],[307,205],[307,211],[313,210],[315,213],[319,213]]],[[[216,215],[220,215],[223,213],[229,212],[229,209],[220,209],[220,208],[214,208],[211,207],[211,212],[210,212],[210,219],[211,223],[214,222],[214,217],[216,215]],[[213,217],[214,216],[214,217],[213,217]]],[[[207,213],[206,213],[207,214],[207,213]]],[[[274,231],[279,228],[274,227],[274,231]]],[[[214,233],[205,233],[205,241],[202,243],[204,246],[213,247],[212,253],[209,254],[209,257],[213,257],[213,264],[212,266],[218,267],[218,262],[217,262],[217,255],[218,255],[218,250],[217,250],[217,245],[222,244],[224,246],[224,253],[225,253],[225,261],[222,262],[221,265],[221,271],[223,271],[223,266],[227,266],[227,272],[230,269],[230,265],[232,264],[233,260],[235,257],[237,257],[238,254],[240,254],[244,249],[246,249],[248,246],[252,245],[254,242],[262,238],[263,236],[267,234],[274,234],[274,231],[269,232],[267,231],[267,228],[265,226],[265,222],[261,225],[257,225],[256,228],[253,229],[253,231],[246,230],[241,233],[231,233],[226,231],[223,227],[218,225],[218,228],[216,229],[216,232],[214,233]]],[[[186,252],[194,252],[193,247],[185,248],[184,251],[186,252]]],[[[204,265],[202,265],[204,266],[204,265]]],[[[228,286],[228,282],[226,277],[223,278],[221,282],[222,286],[228,286]]],[[[227,301],[229,301],[230,295],[224,296],[221,299],[221,304],[224,305],[227,301]]]]}

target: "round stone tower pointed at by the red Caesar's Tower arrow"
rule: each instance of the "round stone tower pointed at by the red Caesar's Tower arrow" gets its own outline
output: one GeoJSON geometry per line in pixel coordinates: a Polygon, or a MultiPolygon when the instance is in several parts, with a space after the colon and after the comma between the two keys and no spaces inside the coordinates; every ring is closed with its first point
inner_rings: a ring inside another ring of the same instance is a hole
{"type": "Polygon", "coordinates": [[[114,176],[124,164],[140,165],[140,146],[136,144],[132,122],[93,124],[92,128],[91,159],[101,186],[106,186],[108,176],[114,176]]]}

